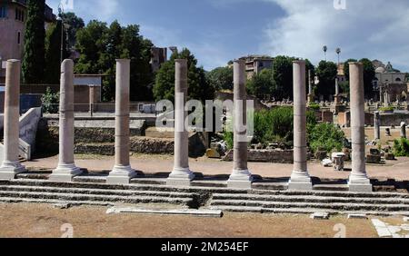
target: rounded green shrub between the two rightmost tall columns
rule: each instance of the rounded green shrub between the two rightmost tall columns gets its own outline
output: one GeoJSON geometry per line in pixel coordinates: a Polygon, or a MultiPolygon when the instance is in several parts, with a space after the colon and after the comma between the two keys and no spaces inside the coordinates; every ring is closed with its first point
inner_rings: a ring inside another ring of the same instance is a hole
{"type": "Polygon", "coordinates": [[[340,152],[344,148],[345,134],[334,124],[320,123],[309,131],[308,140],[313,152],[318,148],[323,148],[328,153],[334,150],[340,152]]]}

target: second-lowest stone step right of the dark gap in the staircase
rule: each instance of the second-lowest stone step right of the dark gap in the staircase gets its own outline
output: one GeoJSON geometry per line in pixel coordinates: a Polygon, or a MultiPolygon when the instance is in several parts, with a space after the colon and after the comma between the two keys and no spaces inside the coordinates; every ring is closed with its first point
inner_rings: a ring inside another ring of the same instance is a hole
{"type": "Polygon", "coordinates": [[[273,209],[314,208],[336,211],[409,212],[409,204],[319,203],[319,202],[257,202],[213,200],[211,206],[249,206],[273,209]]]}

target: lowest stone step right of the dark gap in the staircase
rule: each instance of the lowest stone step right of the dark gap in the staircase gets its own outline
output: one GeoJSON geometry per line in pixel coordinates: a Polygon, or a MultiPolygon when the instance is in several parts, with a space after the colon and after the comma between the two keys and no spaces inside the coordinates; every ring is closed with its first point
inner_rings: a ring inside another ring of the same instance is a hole
{"type": "Polygon", "coordinates": [[[212,206],[212,210],[223,212],[256,212],[256,213],[275,213],[275,214],[312,214],[314,212],[328,212],[329,214],[366,214],[372,216],[406,216],[409,212],[376,212],[376,211],[334,211],[321,208],[263,208],[250,206],[212,206]]]}

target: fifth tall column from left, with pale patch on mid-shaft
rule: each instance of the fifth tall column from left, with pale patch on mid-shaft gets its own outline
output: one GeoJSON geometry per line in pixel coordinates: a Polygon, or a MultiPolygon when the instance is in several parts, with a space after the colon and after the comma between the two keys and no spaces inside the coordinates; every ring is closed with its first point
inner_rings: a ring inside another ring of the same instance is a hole
{"type": "Polygon", "coordinates": [[[234,167],[228,187],[251,189],[253,177],[247,168],[247,95],[245,62],[234,61],[234,167]]]}

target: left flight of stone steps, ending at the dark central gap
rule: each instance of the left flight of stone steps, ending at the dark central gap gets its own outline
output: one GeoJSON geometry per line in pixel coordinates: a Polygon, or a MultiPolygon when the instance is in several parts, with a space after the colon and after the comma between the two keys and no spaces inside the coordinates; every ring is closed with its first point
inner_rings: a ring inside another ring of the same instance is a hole
{"type": "Polygon", "coordinates": [[[166,203],[196,208],[195,192],[157,189],[149,185],[118,186],[35,180],[0,181],[0,202],[69,203],[102,205],[166,203]]]}

